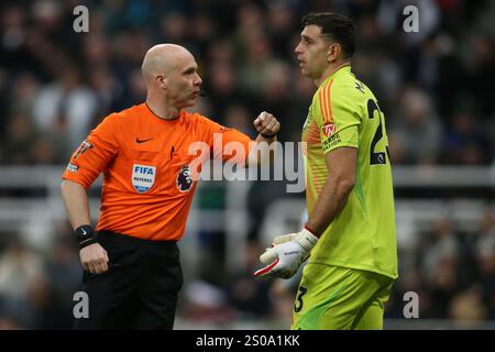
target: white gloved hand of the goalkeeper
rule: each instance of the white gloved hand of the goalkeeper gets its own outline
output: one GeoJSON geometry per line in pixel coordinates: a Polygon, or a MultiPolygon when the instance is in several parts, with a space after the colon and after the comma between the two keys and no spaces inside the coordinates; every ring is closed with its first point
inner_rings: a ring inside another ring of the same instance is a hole
{"type": "Polygon", "coordinates": [[[260,256],[260,261],[267,265],[256,271],[254,276],[293,277],[317,241],[318,238],[307,229],[275,238],[273,246],[260,256]]]}

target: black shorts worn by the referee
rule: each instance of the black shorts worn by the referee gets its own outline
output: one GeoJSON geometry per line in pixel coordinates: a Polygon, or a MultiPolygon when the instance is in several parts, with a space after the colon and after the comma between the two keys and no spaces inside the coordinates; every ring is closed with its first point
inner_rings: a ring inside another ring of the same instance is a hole
{"type": "Polygon", "coordinates": [[[75,329],[172,329],[183,285],[176,242],[147,241],[102,231],[98,242],[108,253],[103,274],[84,272],[82,292],[89,317],[75,329]]]}

